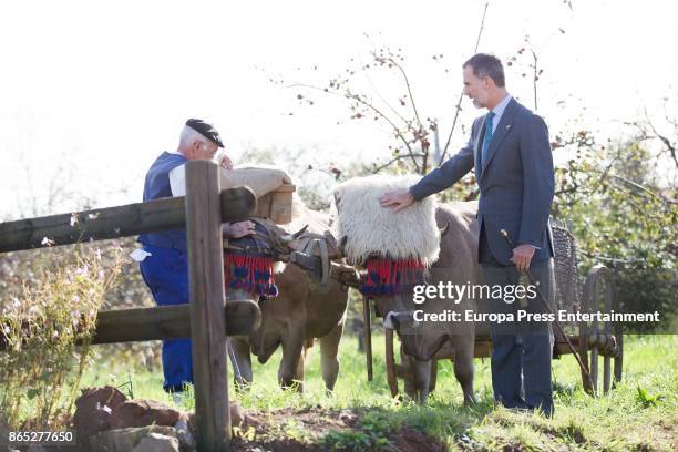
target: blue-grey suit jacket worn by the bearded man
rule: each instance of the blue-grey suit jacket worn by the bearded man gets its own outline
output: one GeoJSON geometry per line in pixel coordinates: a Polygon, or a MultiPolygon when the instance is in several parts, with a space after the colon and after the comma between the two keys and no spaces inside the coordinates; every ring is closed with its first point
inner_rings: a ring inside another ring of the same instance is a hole
{"type": "Polygon", "coordinates": [[[542,117],[512,99],[506,105],[482,168],[479,167],[485,115],[471,129],[469,143],[442,166],[410,187],[415,199],[441,192],[475,167],[480,199],[477,218],[484,225],[492,256],[511,264],[512,251],[500,229],[514,245],[530,244],[533,260],[553,256],[548,215],[554,193],[554,172],[548,129],[542,117]],[[479,177],[480,175],[480,177],[479,177]]]}

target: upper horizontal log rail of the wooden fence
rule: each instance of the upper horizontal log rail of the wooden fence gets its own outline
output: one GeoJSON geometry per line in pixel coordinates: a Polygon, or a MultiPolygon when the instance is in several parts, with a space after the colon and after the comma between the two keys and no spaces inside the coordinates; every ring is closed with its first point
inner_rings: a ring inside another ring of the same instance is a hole
{"type": "MultiPolygon", "coordinates": [[[[220,193],[222,222],[237,222],[257,209],[248,187],[220,193]]],[[[0,253],[104,240],[186,227],[185,197],[161,198],[72,214],[0,223],[0,253]]]]}

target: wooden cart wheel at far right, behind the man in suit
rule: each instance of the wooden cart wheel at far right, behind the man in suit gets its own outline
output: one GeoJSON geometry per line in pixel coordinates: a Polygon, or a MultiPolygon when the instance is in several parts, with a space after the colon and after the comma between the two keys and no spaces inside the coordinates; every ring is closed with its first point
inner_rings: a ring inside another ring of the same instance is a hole
{"type": "MultiPolygon", "coordinates": [[[[584,298],[582,312],[612,312],[619,311],[619,300],[615,297],[613,275],[609,268],[596,265],[590,269],[584,284],[584,298]],[[602,286],[604,284],[604,286],[602,286]],[[604,296],[598,297],[603,288],[604,296]]],[[[584,390],[592,394],[599,394],[598,390],[598,361],[603,360],[603,393],[622,381],[622,366],[624,359],[624,336],[622,325],[618,322],[579,322],[579,356],[588,368],[590,382],[582,372],[584,390]],[[614,381],[612,360],[614,359],[614,381]],[[593,383],[593,386],[592,386],[593,383]]]]}

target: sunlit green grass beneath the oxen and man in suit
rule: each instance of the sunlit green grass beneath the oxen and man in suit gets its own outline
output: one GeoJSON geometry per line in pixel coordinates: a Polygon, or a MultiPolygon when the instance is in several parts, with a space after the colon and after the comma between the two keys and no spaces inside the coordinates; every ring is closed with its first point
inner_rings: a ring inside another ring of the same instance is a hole
{"type": "MultiPolygon", "coordinates": [[[[479,403],[462,407],[461,389],[452,363],[439,366],[435,392],[425,407],[390,397],[383,366],[383,337],[374,336],[374,381],[367,381],[364,355],[356,338],[345,338],[341,370],[333,394],[327,394],[319,368],[319,347],[306,366],[304,394],[277,386],[279,351],[270,361],[255,363],[251,391],[229,394],[246,410],[275,413],[281,409],[317,409],[328,417],[340,410],[359,413],[352,429],[310,434],[294,417],[281,422],[277,434],[323,446],[389,449],[393,432],[407,427],[435,438],[450,450],[676,450],[678,425],[678,336],[628,337],[623,382],[609,394],[593,399],[582,390],[579,370],[571,356],[553,361],[555,417],[545,419],[495,408],[492,402],[490,360],[475,361],[479,403]]],[[[229,369],[230,370],[230,369],[229,369]]],[[[122,384],[131,380],[134,397],[171,402],[162,390],[162,372],[135,370],[133,362],[101,362],[83,386],[122,384]]],[[[123,388],[124,390],[125,388],[123,388]]],[[[401,384],[402,390],[402,384],[401,384]]],[[[192,408],[192,400],[186,404],[192,408]]]]}

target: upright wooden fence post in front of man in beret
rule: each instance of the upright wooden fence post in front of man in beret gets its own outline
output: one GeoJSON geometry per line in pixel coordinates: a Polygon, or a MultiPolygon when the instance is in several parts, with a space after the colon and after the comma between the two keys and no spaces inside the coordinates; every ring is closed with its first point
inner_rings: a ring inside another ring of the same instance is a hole
{"type": "Polygon", "coordinates": [[[186,164],[186,238],[198,451],[226,450],[230,440],[219,189],[215,163],[186,164]]]}

